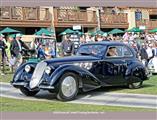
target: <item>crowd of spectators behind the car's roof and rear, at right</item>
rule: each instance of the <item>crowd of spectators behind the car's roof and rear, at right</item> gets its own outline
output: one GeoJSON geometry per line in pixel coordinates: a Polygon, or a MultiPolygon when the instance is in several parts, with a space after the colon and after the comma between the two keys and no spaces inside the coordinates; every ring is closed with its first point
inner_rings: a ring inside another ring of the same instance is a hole
{"type": "Polygon", "coordinates": [[[123,36],[103,36],[97,35],[95,37],[86,36],[80,39],[82,43],[91,41],[119,41],[123,42],[132,47],[137,57],[147,67],[148,62],[153,57],[157,56],[157,33],[128,33],[126,32],[123,36]]]}

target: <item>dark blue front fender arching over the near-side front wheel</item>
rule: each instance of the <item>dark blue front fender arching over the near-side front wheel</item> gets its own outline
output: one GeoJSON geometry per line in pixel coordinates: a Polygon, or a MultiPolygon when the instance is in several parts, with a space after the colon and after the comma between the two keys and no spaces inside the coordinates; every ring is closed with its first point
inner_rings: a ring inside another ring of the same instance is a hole
{"type": "Polygon", "coordinates": [[[79,87],[83,87],[87,81],[88,82],[86,84],[93,85],[93,87],[100,86],[100,80],[98,78],[96,78],[88,70],[75,65],[61,65],[58,67],[51,75],[50,85],[55,86],[58,83],[59,78],[65,72],[73,72],[79,76],[79,87]]]}

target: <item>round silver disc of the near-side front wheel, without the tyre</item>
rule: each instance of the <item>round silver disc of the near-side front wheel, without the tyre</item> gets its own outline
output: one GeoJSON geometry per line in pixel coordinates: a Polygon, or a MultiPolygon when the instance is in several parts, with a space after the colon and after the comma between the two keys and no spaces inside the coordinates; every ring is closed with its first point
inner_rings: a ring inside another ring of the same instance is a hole
{"type": "Polygon", "coordinates": [[[61,90],[64,96],[70,97],[75,94],[76,88],[76,81],[75,78],[72,76],[67,76],[64,78],[61,84],[61,90]]]}

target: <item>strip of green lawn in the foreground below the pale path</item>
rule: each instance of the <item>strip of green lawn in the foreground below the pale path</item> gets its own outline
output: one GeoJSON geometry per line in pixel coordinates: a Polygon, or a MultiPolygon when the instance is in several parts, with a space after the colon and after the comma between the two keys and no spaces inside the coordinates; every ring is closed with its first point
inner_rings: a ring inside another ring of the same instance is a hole
{"type": "Polygon", "coordinates": [[[71,104],[65,102],[41,102],[0,98],[3,112],[155,112],[155,109],[114,107],[103,105],[71,104]]]}

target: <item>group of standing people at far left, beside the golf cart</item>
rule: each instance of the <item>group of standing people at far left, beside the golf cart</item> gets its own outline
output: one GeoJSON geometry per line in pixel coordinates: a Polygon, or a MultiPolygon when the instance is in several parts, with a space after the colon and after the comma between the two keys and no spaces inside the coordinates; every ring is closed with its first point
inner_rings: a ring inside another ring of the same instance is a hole
{"type": "Polygon", "coordinates": [[[29,47],[21,40],[22,35],[16,34],[8,35],[7,39],[4,39],[4,35],[0,34],[0,61],[3,67],[1,67],[1,75],[4,74],[4,65],[7,64],[10,67],[10,70],[13,70],[13,67],[18,67],[21,65],[22,58],[22,48],[29,49],[29,47]]]}

